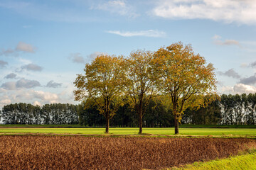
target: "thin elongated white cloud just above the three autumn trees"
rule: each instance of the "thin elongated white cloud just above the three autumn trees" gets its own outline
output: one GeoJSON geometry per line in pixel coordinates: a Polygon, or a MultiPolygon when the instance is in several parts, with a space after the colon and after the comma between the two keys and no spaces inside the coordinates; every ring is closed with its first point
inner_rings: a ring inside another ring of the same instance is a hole
{"type": "Polygon", "coordinates": [[[108,30],[107,33],[117,34],[123,37],[143,36],[143,37],[160,38],[160,37],[166,36],[166,33],[164,31],[159,31],[159,30],[139,30],[139,31],[108,30]]]}

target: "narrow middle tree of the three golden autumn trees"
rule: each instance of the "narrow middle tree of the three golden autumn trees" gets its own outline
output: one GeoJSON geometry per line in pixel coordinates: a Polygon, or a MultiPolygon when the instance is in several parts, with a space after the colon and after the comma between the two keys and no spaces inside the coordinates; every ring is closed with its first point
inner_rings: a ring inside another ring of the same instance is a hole
{"type": "Polygon", "coordinates": [[[131,99],[135,111],[139,117],[139,134],[142,134],[142,119],[146,106],[154,95],[154,77],[151,74],[151,60],[153,53],[150,51],[137,50],[131,52],[126,60],[125,89],[131,99]]]}

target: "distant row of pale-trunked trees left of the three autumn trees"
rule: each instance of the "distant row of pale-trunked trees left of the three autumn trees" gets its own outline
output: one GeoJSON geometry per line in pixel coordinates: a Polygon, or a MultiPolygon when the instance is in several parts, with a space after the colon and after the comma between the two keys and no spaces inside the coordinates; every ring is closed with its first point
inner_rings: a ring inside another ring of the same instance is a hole
{"type": "Polygon", "coordinates": [[[42,107],[29,103],[14,103],[2,108],[1,119],[5,124],[78,124],[78,106],[53,103],[42,107]]]}

